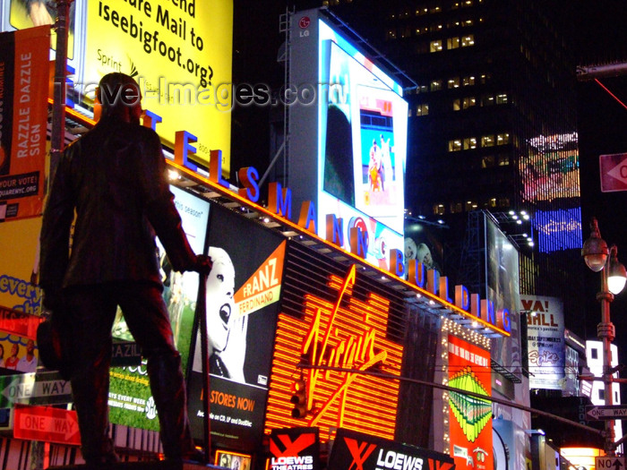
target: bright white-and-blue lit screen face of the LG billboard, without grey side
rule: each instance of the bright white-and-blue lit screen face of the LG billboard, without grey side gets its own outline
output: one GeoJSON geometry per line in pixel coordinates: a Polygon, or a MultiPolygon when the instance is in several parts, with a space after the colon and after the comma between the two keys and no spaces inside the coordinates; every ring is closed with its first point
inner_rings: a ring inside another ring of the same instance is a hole
{"type": "Polygon", "coordinates": [[[381,260],[403,247],[408,105],[398,83],[324,21],[319,54],[319,224],[331,213],[360,223],[366,258],[381,260]]]}

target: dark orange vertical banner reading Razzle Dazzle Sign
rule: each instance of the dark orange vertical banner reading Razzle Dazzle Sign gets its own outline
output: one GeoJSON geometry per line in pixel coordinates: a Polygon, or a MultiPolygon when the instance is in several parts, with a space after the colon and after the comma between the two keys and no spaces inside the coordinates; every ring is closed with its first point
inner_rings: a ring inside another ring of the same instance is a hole
{"type": "Polygon", "coordinates": [[[48,26],[0,34],[0,222],[43,209],[49,43],[48,26]]]}

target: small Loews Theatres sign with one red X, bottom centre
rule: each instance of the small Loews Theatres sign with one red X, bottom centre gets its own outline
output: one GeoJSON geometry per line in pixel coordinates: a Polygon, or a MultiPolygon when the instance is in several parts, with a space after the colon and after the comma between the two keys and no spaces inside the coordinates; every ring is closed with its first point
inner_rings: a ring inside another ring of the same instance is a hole
{"type": "Polygon", "coordinates": [[[318,428],[285,428],[270,434],[270,459],[266,470],[320,470],[318,428]]]}

